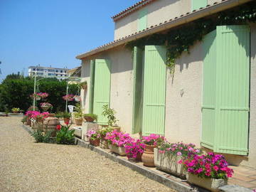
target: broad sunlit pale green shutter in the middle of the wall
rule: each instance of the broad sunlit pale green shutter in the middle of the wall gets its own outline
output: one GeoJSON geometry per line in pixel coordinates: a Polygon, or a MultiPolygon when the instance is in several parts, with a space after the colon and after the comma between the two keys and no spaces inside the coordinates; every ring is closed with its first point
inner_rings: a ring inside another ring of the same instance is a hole
{"type": "Polygon", "coordinates": [[[166,48],[145,46],[142,134],[164,135],[166,48]]]}

